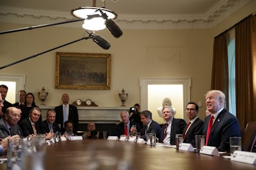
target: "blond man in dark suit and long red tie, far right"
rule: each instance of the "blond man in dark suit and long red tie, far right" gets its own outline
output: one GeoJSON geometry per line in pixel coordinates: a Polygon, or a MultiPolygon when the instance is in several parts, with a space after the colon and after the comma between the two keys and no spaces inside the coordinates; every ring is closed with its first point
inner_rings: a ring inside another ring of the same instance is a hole
{"type": "Polygon", "coordinates": [[[211,112],[204,121],[205,145],[215,146],[220,152],[228,152],[230,150],[229,138],[241,137],[239,122],[225,109],[223,92],[210,90],[205,99],[206,108],[211,112]]]}

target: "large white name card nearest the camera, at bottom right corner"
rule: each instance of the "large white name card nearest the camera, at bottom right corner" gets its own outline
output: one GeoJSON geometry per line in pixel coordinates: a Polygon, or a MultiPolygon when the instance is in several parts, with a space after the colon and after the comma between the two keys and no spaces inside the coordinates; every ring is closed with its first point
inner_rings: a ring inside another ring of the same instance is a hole
{"type": "Polygon", "coordinates": [[[236,150],[231,160],[256,165],[256,153],[236,150]]]}

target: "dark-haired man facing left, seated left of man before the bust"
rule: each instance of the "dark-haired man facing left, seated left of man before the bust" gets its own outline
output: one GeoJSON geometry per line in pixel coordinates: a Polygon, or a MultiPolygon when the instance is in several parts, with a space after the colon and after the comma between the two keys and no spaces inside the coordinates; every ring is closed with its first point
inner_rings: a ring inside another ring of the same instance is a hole
{"type": "Polygon", "coordinates": [[[152,113],[148,110],[144,110],[140,113],[140,119],[141,122],[143,123],[143,127],[140,131],[141,138],[147,141],[147,133],[152,133],[156,134],[156,138],[159,139],[159,141],[161,141],[161,127],[159,124],[157,124],[157,122],[152,120],[152,113]]]}

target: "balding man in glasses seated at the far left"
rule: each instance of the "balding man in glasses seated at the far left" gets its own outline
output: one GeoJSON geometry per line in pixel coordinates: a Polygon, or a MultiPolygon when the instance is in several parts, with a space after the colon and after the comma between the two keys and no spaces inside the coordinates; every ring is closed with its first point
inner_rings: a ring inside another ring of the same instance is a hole
{"type": "MultiPolygon", "coordinates": [[[[1,98],[1,97],[0,97],[1,98]]],[[[21,117],[20,108],[9,107],[4,114],[4,118],[0,120],[0,130],[2,131],[0,138],[6,138],[18,134],[22,137],[22,131],[18,125],[21,117]]]]}

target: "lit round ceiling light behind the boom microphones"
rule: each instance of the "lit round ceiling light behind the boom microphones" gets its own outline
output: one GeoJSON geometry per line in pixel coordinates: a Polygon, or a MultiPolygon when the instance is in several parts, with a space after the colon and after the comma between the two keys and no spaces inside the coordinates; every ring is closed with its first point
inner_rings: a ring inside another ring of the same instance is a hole
{"type": "Polygon", "coordinates": [[[96,8],[96,7],[79,7],[71,11],[71,15],[76,18],[84,18],[83,28],[88,29],[91,31],[99,31],[101,29],[105,29],[105,20],[104,18],[100,17],[102,14],[100,13],[101,10],[103,13],[108,15],[108,19],[115,19],[117,18],[117,14],[114,11],[107,10],[105,8],[96,8]],[[87,19],[88,16],[95,15],[99,17],[90,17],[87,19]]]}

